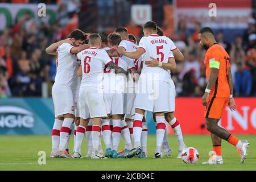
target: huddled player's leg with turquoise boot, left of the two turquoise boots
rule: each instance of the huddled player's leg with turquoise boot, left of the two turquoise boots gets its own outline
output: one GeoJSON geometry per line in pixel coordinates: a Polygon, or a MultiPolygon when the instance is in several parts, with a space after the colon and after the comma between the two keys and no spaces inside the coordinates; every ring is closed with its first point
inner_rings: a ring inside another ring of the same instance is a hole
{"type": "Polygon", "coordinates": [[[102,137],[106,147],[106,156],[112,156],[112,133],[110,129],[110,114],[102,119],[102,137]]]}

